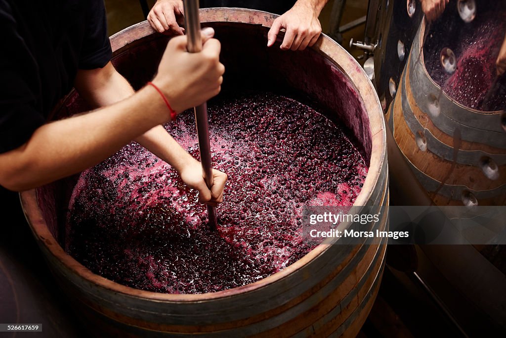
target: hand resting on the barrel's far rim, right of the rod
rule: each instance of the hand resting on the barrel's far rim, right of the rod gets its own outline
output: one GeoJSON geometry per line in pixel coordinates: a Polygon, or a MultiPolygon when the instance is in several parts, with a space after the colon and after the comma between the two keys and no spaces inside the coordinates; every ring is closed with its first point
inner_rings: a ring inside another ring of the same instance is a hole
{"type": "Polygon", "coordinates": [[[281,28],[285,28],[283,50],[304,50],[313,46],[321,33],[321,24],[318,20],[321,10],[328,0],[298,0],[286,13],[276,18],[267,34],[267,46],[271,47],[281,28]]]}

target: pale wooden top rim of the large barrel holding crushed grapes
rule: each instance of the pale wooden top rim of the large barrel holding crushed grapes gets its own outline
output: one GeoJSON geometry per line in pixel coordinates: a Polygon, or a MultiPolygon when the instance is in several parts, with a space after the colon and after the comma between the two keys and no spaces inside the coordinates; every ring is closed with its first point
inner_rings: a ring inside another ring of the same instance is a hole
{"type": "MultiPolygon", "coordinates": [[[[200,10],[200,20],[202,23],[225,21],[254,25],[261,24],[264,27],[270,28],[274,19],[277,17],[278,15],[275,14],[249,9],[209,8],[200,10]]],[[[143,21],[112,35],[110,37],[111,46],[113,47],[114,52],[119,51],[122,47],[153,33],[156,34],[149,23],[147,21],[143,21]]],[[[313,47],[311,47],[311,49],[321,54],[343,72],[343,75],[349,80],[350,85],[355,87],[354,89],[357,93],[360,93],[363,108],[369,118],[369,131],[371,133],[372,145],[369,170],[362,186],[362,190],[353,204],[354,206],[360,206],[360,209],[363,209],[378,184],[381,172],[385,170],[385,167],[387,166],[387,135],[381,103],[379,102],[374,87],[363,68],[342,46],[335,43],[327,35],[321,34],[318,41],[313,47]],[[351,71],[347,71],[346,69],[351,71]]],[[[34,236],[37,238],[39,245],[44,245],[48,251],[53,254],[53,256],[61,261],[64,266],[72,270],[76,275],[97,284],[99,287],[127,296],[149,299],[149,301],[153,302],[194,303],[213,301],[214,299],[227,298],[267,287],[294,271],[297,271],[300,267],[307,265],[310,261],[322,255],[327,250],[328,246],[331,245],[320,244],[285,269],[254,283],[232,289],[199,294],[170,294],[145,291],[125,286],[94,274],[88,268],[81,265],[71,255],[67,254],[49,231],[47,222],[38,207],[36,189],[21,192],[20,200],[26,220],[34,236]]],[[[346,228],[350,225],[351,222],[345,223],[346,228]]]]}

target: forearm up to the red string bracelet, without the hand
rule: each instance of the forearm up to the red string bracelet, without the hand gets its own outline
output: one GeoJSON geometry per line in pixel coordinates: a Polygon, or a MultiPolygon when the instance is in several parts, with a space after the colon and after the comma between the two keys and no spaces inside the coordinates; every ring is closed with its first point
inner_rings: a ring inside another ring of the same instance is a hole
{"type": "Polygon", "coordinates": [[[0,184],[27,190],[104,160],[163,122],[161,115],[144,114],[148,106],[166,109],[157,95],[145,88],[111,106],[41,126],[24,145],[0,154],[0,184]]]}

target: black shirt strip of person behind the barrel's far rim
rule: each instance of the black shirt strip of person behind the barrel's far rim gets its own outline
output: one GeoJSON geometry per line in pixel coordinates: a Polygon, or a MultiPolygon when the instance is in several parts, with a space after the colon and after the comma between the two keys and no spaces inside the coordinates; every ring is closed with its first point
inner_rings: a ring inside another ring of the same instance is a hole
{"type": "Polygon", "coordinates": [[[200,0],[200,7],[240,7],[283,14],[295,3],[295,0],[200,0]]]}

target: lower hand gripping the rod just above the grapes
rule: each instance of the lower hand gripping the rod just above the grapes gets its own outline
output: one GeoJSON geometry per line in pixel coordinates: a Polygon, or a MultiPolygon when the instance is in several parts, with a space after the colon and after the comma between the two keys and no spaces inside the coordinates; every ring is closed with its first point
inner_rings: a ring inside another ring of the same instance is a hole
{"type": "Polygon", "coordinates": [[[209,190],[202,175],[202,165],[198,161],[182,168],[181,179],[191,188],[198,190],[199,201],[216,207],[223,202],[223,188],[227,181],[227,174],[213,169],[213,186],[209,190]]]}

